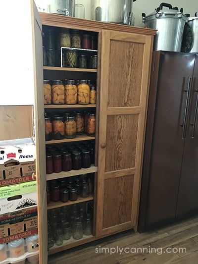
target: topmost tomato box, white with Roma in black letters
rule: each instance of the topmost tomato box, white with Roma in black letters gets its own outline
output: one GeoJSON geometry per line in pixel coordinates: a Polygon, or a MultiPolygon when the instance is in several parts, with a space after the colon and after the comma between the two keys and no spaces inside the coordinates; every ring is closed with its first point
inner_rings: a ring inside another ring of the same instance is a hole
{"type": "Polygon", "coordinates": [[[0,141],[0,186],[31,181],[35,157],[33,138],[0,141]]]}

